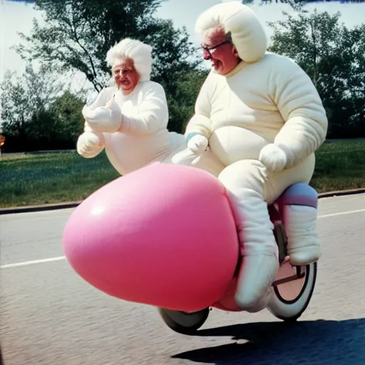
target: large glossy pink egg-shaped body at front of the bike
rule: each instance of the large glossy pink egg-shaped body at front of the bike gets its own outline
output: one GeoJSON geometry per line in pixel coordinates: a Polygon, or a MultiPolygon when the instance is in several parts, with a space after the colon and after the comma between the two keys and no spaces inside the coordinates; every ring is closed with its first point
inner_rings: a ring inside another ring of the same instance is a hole
{"type": "Polygon", "coordinates": [[[83,201],[68,220],[63,249],[93,287],[185,312],[225,296],[239,257],[225,187],[205,171],[162,163],[83,201]]]}

